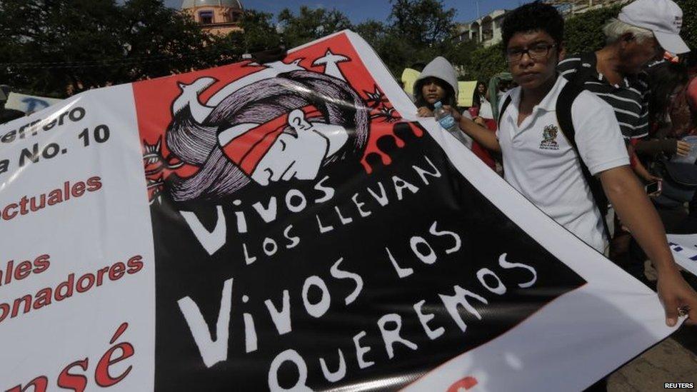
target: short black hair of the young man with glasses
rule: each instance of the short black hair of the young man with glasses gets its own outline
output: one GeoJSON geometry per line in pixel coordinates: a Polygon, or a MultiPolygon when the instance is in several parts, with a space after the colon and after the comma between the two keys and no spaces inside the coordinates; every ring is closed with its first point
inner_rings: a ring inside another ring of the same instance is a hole
{"type": "Polygon", "coordinates": [[[534,1],[506,14],[501,30],[504,50],[515,34],[528,31],[544,31],[558,46],[561,46],[564,38],[564,19],[553,6],[534,1]]]}

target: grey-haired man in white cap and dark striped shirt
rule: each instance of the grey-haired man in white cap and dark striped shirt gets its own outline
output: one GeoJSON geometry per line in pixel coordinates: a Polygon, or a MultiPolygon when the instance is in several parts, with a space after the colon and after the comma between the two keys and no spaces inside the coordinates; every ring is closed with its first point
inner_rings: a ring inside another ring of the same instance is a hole
{"type": "MultiPolygon", "coordinates": [[[[636,0],[624,6],[616,19],[603,28],[603,49],[567,56],[558,71],[573,84],[582,86],[610,104],[617,117],[631,156],[631,166],[643,181],[656,181],[641,164],[633,139],[648,135],[648,76],[643,67],[661,59],[665,51],[683,54],[690,49],[680,38],[683,12],[671,0],[636,0]]],[[[626,225],[615,221],[611,258],[626,253],[630,235],[626,225]]]]}

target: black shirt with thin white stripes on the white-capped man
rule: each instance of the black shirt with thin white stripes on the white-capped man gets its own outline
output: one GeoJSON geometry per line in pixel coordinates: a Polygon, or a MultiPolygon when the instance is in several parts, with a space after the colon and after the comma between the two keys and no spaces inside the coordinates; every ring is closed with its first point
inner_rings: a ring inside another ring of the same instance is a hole
{"type": "Polygon", "coordinates": [[[621,84],[610,82],[598,72],[594,53],[573,55],[561,61],[557,70],[569,81],[581,84],[615,109],[625,139],[638,139],[648,134],[648,76],[641,72],[625,77],[621,84]]]}

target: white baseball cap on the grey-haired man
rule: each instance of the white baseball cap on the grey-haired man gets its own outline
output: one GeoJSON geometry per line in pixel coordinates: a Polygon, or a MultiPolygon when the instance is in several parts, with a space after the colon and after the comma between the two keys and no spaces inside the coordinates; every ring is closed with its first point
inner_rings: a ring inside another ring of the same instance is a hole
{"type": "Polygon", "coordinates": [[[653,31],[658,44],[672,54],[690,51],[680,37],[683,10],[674,1],[636,0],[624,6],[617,19],[626,24],[653,31]]]}

